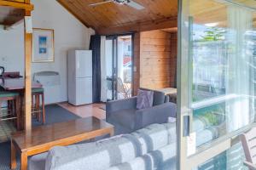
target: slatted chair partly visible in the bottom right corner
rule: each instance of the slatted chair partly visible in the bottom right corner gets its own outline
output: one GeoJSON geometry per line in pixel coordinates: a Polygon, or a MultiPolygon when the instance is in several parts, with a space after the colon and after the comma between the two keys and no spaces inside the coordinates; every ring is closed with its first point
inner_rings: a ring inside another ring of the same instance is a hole
{"type": "Polygon", "coordinates": [[[256,170],[256,127],[247,133],[241,134],[241,145],[244,150],[246,161],[244,165],[250,170],[256,170]]]}

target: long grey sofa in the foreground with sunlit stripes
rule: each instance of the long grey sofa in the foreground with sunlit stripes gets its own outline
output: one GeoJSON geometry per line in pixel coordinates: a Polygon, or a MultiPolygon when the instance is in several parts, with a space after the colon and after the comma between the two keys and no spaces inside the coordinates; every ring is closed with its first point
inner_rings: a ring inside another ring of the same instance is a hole
{"type": "Polygon", "coordinates": [[[57,146],[28,163],[29,170],[172,170],[176,124],[152,124],[94,143],[57,146]]]}

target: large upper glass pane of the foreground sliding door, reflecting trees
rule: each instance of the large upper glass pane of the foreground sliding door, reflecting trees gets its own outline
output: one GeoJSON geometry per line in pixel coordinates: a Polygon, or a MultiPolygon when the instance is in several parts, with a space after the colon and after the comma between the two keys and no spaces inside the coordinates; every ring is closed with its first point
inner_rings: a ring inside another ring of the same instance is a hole
{"type": "Polygon", "coordinates": [[[189,108],[196,146],[254,122],[256,12],[189,1],[189,108]]]}

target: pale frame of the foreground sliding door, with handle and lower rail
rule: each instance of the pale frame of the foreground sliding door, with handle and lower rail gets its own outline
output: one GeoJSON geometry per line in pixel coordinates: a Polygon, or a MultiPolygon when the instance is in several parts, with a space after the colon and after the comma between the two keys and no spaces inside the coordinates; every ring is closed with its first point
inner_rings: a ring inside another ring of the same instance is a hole
{"type": "MultiPolygon", "coordinates": [[[[193,111],[189,109],[189,67],[192,64],[189,60],[189,26],[183,26],[183,17],[189,23],[189,5],[183,5],[184,0],[178,0],[177,17],[177,169],[190,170],[199,166],[214,156],[230,149],[239,142],[239,135],[246,132],[251,127],[256,126],[255,122],[245,127],[229,133],[218,139],[214,139],[211,144],[202,146],[195,155],[187,156],[187,134],[191,133],[193,111]],[[184,123],[186,122],[186,123],[184,123]]],[[[230,0],[224,2],[232,3],[230,0]]],[[[237,3],[234,3],[239,5],[237,3]]],[[[188,24],[189,25],[189,24],[188,24]]]]}

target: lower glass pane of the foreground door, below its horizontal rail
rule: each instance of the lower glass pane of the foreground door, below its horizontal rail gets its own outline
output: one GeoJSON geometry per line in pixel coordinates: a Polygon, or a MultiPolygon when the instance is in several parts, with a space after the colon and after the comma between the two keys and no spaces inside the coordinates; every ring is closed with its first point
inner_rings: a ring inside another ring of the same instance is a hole
{"type": "Polygon", "coordinates": [[[238,143],[193,170],[247,170],[243,161],[245,161],[244,151],[241,143],[238,143]]]}

